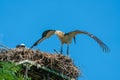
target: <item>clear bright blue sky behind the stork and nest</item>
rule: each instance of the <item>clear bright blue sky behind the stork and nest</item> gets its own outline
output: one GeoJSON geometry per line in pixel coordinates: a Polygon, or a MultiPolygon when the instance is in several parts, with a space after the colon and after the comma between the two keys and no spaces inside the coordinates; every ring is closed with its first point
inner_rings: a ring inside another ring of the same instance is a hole
{"type": "MultiPolygon", "coordinates": [[[[77,35],[70,45],[70,57],[80,66],[79,80],[120,80],[119,0],[0,0],[0,43],[14,48],[30,47],[44,30],[85,30],[98,36],[111,49],[103,53],[86,35],[77,35]]],[[[54,53],[60,49],[56,36],[34,49],[54,53]]],[[[64,45],[64,55],[66,55],[64,45]]]]}

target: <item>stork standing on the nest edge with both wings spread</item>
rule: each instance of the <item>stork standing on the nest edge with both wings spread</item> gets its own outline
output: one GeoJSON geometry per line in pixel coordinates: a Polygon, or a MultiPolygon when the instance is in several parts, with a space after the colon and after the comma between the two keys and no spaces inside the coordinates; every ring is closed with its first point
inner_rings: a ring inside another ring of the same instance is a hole
{"type": "Polygon", "coordinates": [[[93,34],[91,34],[89,32],[81,31],[81,30],[75,30],[75,31],[72,31],[69,33],[64,33],[59,30],[46,30],[43,32],[42,37],[39,40],[37,40],[30,48],[33,48],[34,46],[38,45],[44,39],[49,38],[53,34],[56,34],[58,36],[59,40],[61,41],[61,50],[60,50],[61,54],[63,51],[63,44],[67,44],[67,55],[69,54],[69,44],[72,42],[73,38],[74,38],[74,42],[76,42],[75,36],[77,34],[88,35],[89,37],[93,38],[100,45],[100,47],[103,49],[104,52],[109,51],[109,48],[107,47],[107,45],[105,43],[103,43],[99,38],[97,38],[96,36],[94,36],[93,34]]]}

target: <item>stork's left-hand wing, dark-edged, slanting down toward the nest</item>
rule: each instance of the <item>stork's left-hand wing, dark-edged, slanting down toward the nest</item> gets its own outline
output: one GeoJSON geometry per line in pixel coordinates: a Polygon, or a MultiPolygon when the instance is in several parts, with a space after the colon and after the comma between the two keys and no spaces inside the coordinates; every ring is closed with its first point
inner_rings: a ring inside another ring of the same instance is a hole
{"type": "Polygon", "coordinates": [[[40,39],[38,39],[31,47],[30,49],[32,49],[34,46],[38,45],[39,43],[41,43],[43,40],[49,38],[50,36],[52,36],[55,33],[55,30],[46,30],[42,33],[42,37],[40,39]]]}

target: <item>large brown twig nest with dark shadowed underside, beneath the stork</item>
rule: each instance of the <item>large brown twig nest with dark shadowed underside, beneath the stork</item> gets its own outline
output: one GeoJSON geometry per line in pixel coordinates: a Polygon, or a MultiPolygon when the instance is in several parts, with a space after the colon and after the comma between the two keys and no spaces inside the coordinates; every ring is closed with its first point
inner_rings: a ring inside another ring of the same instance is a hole
{"type": "MultiPolygon", "coordinates": [[[[10,50],[0,49],[0,61],[18,63],[24,60],[34,61],[36,64],[45,66],[50,70],[70,78],[77,79],[80,74],[79,69],[74,65],[72,59],[62,54],[50,54],[27,48],[15,48],[10,50]]],[[[28,76],[31,77],[32,80],[44,80],[43,77],[48,75],[47,73],[49,73],[50,80],[68,80],[62,77],[60,78],[58,75],[54,75],[43,69],[38,69],[35,65],[28,71],[28,76]]]]}

